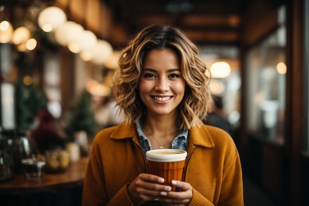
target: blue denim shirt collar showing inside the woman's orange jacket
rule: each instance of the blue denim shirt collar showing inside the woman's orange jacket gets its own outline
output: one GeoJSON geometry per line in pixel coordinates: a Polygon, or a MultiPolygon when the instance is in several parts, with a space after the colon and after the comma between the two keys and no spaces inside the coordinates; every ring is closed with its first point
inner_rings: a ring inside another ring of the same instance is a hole
{"type": "MultiPolygon", "coordinates": [[[[148,150],[151,150],[151,144],[149,139],[146,137],[144,132],[142,131],[141,127],[141,121],[138,121],[136,124],[137,133],[140,139],[140,143],[142,145],[144,153],[146,153],[148,150]]],[[[188,129],[185,131],[182,131],[180,134],[175,137],[175,139],[172,142],[172,149],[179,149],[179,150],[185,150],[187,151],[187,145],[188,145],[188,129]]]]}

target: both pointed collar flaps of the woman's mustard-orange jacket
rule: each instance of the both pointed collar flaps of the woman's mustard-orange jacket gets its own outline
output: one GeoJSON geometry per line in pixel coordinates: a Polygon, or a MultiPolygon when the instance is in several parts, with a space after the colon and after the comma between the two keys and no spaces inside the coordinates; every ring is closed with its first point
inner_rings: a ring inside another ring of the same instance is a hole
{"type": "MultiPolygon", "coordinates": [[[[194,126],[189,129],[189,143],[193,144],[194,146],[202,146],[206,148],[212,148],[215,146],[207,127],[199,121],[201,127],[194,126]],[[203,137],[203,138],[201,138],[203,137]]],[[[136,131],[136,124],[124,124],[121,123],[116,126],[116,129],[111,135],[112,139],[127,139],[133,138],[134,141],[138,140],[138,134],[136,131]]]]}

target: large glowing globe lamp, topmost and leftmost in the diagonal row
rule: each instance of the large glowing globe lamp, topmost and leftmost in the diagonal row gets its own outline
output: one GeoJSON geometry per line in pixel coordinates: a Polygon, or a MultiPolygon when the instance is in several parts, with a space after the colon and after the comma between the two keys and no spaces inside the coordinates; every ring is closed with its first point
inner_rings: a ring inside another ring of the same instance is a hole
{"type": "Polygon", "coordinates": [[[39,13],[38,24],[44,32],[54,31],[59,25],[67,21],[63,10],[56,6],[49,6],[39,13]]]}

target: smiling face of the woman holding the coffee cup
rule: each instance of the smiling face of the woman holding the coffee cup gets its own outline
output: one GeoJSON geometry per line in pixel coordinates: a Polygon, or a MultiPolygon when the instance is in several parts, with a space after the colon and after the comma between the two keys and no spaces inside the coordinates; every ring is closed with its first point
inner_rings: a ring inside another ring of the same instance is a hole
{"type": "Polygon", "coordinates": [[[184,98],[185,85],[173,50],[154,49],[146,54],[138,87],[147,115],[175,115],[184,98]]]}

